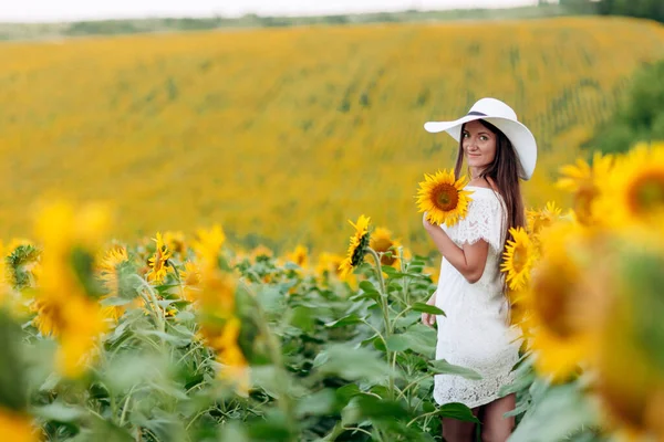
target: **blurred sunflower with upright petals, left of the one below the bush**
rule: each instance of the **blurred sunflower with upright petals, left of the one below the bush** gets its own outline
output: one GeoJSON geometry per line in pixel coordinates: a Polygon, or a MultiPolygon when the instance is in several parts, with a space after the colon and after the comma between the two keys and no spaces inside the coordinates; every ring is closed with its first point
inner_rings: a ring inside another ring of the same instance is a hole
{"type": "Polygon", "coordinates": [[[572,193],[574,214],[584,225],[594,224],[601,215],[601,211],[593,210],[593,204],[602,193],[601,186],[611,176],[613,160],[611,155],[594,152],[592,165],[578,159],[575,165],[560,168],[562,178],[558,180],[557,186],[572,193]]]}

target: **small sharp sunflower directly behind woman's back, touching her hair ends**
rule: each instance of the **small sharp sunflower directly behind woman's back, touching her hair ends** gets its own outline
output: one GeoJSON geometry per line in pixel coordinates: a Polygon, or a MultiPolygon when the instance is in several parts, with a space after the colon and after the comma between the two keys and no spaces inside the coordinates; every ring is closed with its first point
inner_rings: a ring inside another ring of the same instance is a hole
{"type": "Polygon", "coordinates": [[[526,287],[535,263],[535,246],[523,228],[510,229],[512,239],[507,241],[500,270],[507,273],[507,284],[513,291],[526,287]]]}

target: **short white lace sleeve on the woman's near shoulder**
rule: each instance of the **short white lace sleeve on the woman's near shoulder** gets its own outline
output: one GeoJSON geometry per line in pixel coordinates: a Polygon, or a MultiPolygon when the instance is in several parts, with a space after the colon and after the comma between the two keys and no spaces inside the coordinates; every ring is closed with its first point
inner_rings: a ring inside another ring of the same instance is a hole
{"type": "Polygon", "coordinates": [[[450,228],[450,238],[459,246],[485,240],[495,251],[500,252],[505,241],[505,213],[502,202],[496,196],[474,199],[468,204],[466,218],[450,228]]]}

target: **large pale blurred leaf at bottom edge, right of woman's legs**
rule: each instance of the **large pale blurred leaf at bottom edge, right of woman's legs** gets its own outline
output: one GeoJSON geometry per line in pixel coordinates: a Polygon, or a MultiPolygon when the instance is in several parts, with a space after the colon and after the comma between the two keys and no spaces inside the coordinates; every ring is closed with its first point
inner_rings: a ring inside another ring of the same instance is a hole
{"type": "Polygon", "coordinates": [[[581,428],[594,427],[598,423],[595,411],[578,385],[556,386],[526,412],[510,436],[510,442],[561,441],[581,428]]]}

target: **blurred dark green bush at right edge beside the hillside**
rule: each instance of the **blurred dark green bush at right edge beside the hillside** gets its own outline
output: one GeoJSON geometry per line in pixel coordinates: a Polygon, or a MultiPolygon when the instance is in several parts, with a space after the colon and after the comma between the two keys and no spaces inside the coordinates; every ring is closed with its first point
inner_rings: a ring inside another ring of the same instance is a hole
{"type": "Polygon", "coordinates": [[[639,141],[654,140],[664,140],[664,60],[634,75],[625,99],[585,147],[624,152],[639,141]]]}

